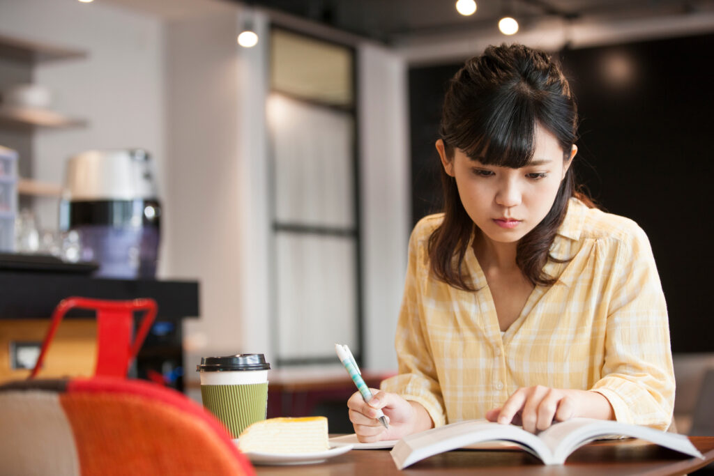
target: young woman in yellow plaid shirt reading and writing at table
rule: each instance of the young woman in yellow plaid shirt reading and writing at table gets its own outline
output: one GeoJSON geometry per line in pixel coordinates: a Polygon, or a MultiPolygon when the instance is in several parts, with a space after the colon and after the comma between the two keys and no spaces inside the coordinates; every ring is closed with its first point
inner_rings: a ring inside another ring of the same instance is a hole
{"type": "Polygon", "coordinates": [[[359,440],[484,417],[531,432],[571,417],[670,425],[650,244],[576,191],[577,128],[568,81],[541,51],[491,46],[454,76],[436,141],[444,211],[409,243],[398,375],[369,404],[348,400],[359,440]]]}

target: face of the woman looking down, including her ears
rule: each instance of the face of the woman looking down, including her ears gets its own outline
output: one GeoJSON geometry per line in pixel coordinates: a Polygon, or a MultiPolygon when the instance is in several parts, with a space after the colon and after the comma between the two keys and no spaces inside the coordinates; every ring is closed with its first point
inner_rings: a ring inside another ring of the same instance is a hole
{"type": "Polygon", "coordinates": [[[542,127],[535,129],[533,160],[522,168],[484,165],[458,148],[450,160],[441,139],[436,148],[446,173],[456,178],[466,213],[486,238],[498,243],[517,242],[545,218],[578,150],[573,146],[563,161],[558,140],[542,127]]]}

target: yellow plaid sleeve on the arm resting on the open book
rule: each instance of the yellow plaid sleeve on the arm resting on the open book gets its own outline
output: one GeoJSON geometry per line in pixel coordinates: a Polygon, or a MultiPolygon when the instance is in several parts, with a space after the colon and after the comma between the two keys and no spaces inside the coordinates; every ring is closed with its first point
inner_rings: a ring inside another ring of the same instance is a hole
{"type": "Polygon", "coordinates": [[[608,399],[616,420],[665,430],[675,391],[667,306],[641,228],[620,244],[612,278],[603,378],[591,390],[608,399]]]}

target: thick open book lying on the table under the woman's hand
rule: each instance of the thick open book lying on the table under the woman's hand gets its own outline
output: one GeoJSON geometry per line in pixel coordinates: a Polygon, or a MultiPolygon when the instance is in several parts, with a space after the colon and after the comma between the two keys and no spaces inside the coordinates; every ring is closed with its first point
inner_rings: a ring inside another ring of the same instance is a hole
{"type": "Polygon", "coordinates": [[[579,447],[598,438],[615,435],[641,438],[685,455],[703,457],[684,435],[592,418],[573,418],[555,423],[538,435],[514,425],[466,420],[403,437],[394,445],[391,455],[402,470],[426,457],[473,443],[507,441],[523,447],[546,465],[562,465],[565,458],[579,447]]]}

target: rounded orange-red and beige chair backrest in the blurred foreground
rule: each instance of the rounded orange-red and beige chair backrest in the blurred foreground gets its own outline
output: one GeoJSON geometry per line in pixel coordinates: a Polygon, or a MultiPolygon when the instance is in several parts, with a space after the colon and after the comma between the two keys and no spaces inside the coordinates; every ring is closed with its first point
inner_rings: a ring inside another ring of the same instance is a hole
{"type": "Polygon", "coordinates": [[[254,475],[221,424],[144,380],[0,385],[0,475],[254,475]]]}

